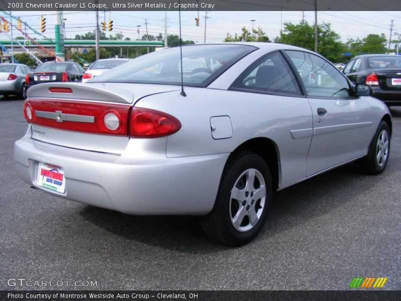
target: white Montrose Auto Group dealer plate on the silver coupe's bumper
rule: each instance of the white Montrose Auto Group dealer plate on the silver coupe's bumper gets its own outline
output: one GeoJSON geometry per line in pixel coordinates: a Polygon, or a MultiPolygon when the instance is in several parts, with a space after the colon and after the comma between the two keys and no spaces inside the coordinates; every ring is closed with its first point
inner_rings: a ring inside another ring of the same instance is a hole
{"type": "Polygon", "coordinates": [[[65,192],[66,181],[63,168],[40,162],[37,173],[36,179],[39,186],[60,193],[65,192]]]}

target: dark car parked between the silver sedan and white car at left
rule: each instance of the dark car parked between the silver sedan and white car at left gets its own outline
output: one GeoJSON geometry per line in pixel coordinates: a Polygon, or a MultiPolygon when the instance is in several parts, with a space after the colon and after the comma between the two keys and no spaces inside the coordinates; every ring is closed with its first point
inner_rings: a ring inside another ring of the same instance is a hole
{"type": "Polygon", "coordinates": [[[26,75],[25,85],[29,88],[49,82],[80,82],[84,72],[84,68],[75,62],[47,62],[26,75]]]}

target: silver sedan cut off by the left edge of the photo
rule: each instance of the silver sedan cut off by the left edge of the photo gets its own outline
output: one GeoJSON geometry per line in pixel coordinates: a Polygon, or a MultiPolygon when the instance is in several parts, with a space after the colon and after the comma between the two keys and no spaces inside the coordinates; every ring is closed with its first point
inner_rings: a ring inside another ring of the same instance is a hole
{"type": "Polygon", "coordinates": [[[24,64],[0,64],[0,94],[4,98],[10,94],[26,98],[25,76],[32,69],[24,64]]]}

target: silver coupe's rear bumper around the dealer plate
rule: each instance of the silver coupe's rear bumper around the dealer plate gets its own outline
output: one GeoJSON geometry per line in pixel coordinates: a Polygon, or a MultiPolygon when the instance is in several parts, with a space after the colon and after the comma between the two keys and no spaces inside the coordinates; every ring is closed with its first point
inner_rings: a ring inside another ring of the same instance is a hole
{"type": "MultiPolygon", "coordinates": [[[[129,148],[129,147],[127,147],[129,148]]],[[[229,154],[133,160],[72,149],[31,138],[30,130],[14,148],[18,175],[54,196],[137,215],[203,215],[214,206],[229,154]],[[37,184],[38,163],[60,166],[64,194],[37,184]]],[[[57,200],[55,200],[57,201],[57,200]]]]}

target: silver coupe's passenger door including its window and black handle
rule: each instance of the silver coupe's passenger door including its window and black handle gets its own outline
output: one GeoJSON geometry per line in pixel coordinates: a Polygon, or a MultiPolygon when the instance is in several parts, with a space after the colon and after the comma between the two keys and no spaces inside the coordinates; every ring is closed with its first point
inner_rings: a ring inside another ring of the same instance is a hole
{"type": "Polygon", "coordinates": [[[365,155],[372,130],[367,100],[356,98],[346,78],[325,59],[303,51],[286,54],[291,61],[303,60],[303,68],[315,74],[314,82],[299,76],[313,114],[306,176],[365,155]]]}

